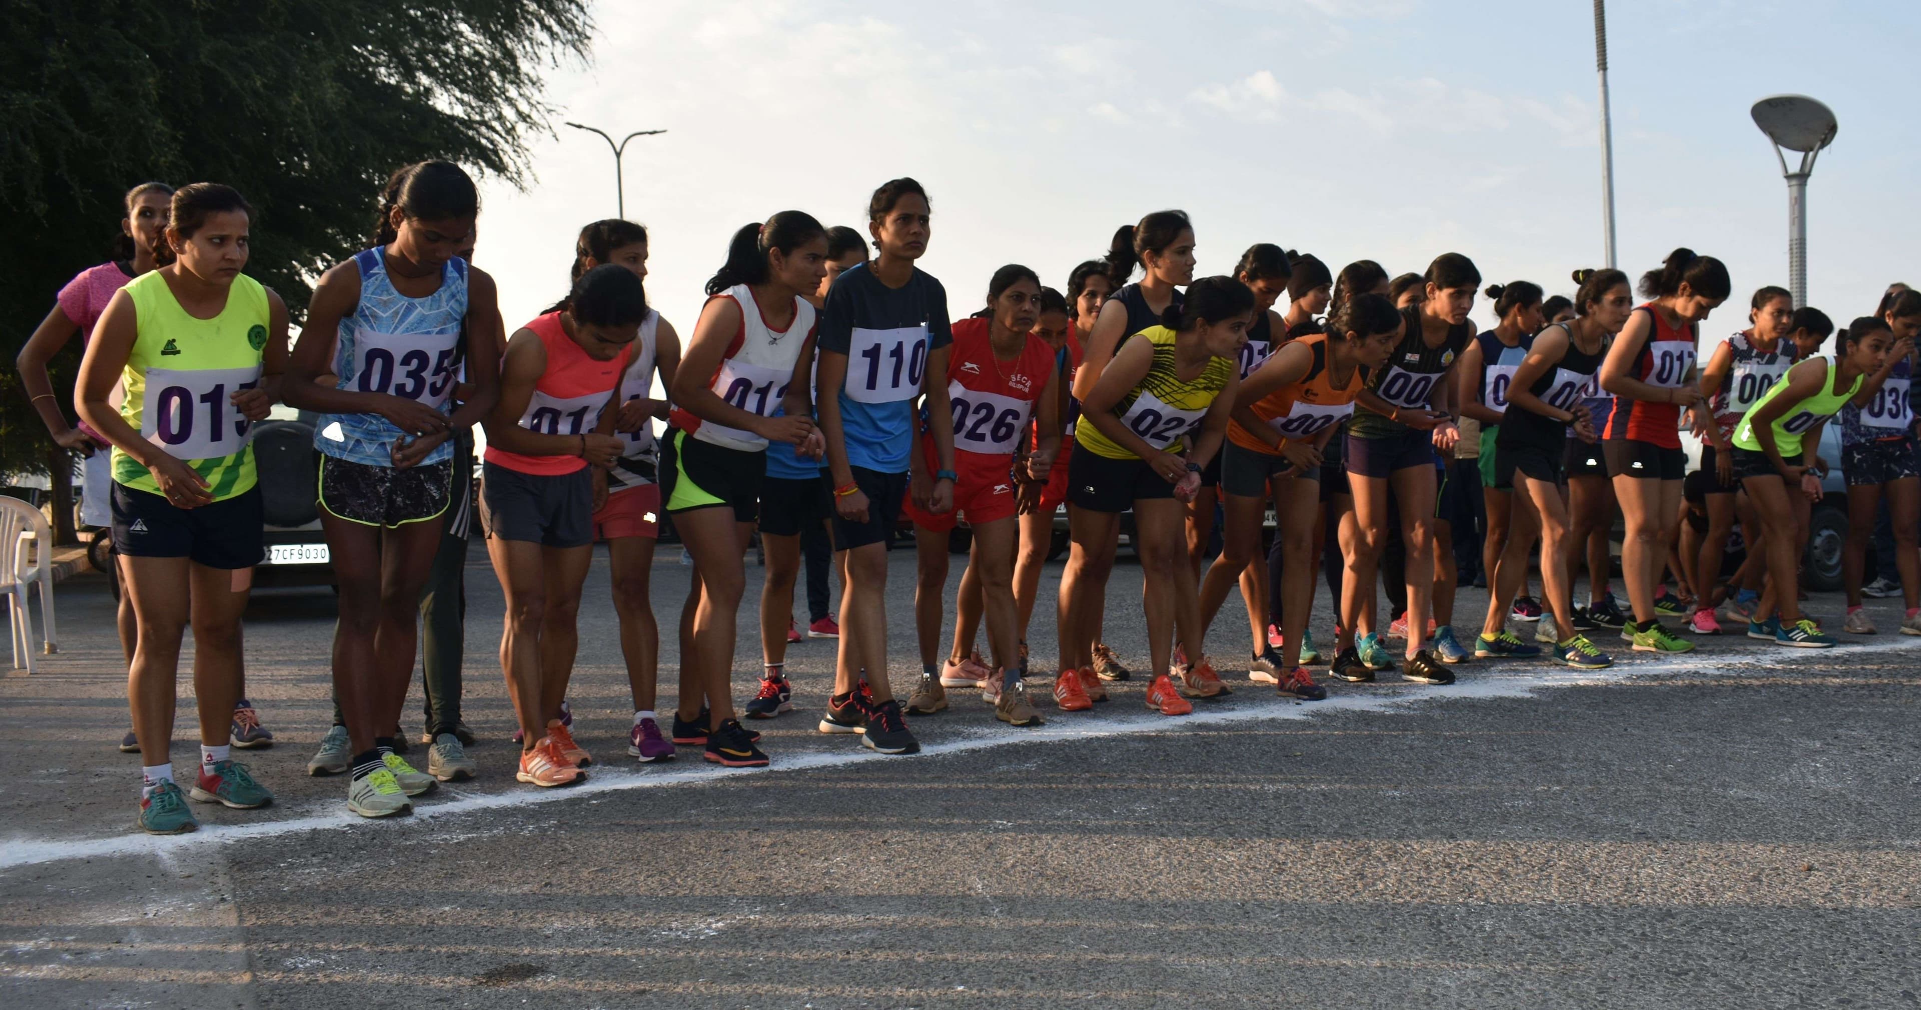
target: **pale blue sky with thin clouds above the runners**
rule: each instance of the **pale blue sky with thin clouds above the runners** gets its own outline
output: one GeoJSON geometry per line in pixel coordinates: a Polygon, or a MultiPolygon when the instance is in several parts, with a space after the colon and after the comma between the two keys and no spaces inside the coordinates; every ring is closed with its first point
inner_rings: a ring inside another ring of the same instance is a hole
{"type": "MultiPolygon", "coordinates": [[[[580,225],[613,217],[607,144],[636,138],[626,215],[651,230],[649,298],[690,334],[747,221],[797,207],[864,230],[876,184],[934,204],[922,267],[955,313],[1003,263],[1064,286],[1118,225],[1195,221],[1201,273],[1252,242],[1571,294],[1600,265],[1593,8],[1585,0],[1210,4],[609,0],[590,65],[549,75],[534,179],[484,180],[476,261],[507,326],[563,294],[580,225]]],[[[1827,102],[1840,132],[1810,194],[1810,301],[1838,325],[1921,282],[1913,2],[1614,0],[1619,265],[1675,246],[1746,292],[1787,284],[1787,192],[1756,98],[1827,102]]],[[[1489,313],[1477,305],[1483,325],[1489,313]]]]}

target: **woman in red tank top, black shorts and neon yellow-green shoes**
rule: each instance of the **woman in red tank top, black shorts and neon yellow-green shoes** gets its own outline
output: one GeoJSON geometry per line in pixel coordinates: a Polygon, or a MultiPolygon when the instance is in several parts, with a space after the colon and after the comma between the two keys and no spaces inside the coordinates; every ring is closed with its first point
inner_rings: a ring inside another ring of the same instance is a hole
{"type": "MultiPolygon", "coordinates": [[[[1675,250],[1658,271],[1641,278],[1650,298],[1621,326],[1600,369],[1600,386],[1616,396],[1602,432],[1614,493],[1627,518],[1621,580],[1635,620],[1621,639],[1642,653],[1687,653],[1692,641],[1660,624],[1656,588],[1667,563],[1667,543],[1681,517],[1681,409],[1702,401],[1694,384],[1698,326],[1727,300],[1727,267],[1712,255],[1675,250]]],[[[1591,576],[1593,578],[1593,576],[1591,576]]]]}

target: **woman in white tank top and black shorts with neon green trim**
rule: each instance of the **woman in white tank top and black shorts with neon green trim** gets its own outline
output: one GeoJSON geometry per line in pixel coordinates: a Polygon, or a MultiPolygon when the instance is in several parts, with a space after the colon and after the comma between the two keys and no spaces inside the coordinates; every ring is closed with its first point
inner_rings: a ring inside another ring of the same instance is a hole
{"type": "Polygon", "coordinates": [[[766,445],[820,457],[809,403],[815,307],[828,236],[801,211],[745,225],[707,280],[707,305],[674,373],[674,413],[661,455],[667,513],[693,557],[699,609],[680,645],[674,743],[705,745],[728,768],[766,764],[734,718],[734,620],[747,588],[766,445]]]}

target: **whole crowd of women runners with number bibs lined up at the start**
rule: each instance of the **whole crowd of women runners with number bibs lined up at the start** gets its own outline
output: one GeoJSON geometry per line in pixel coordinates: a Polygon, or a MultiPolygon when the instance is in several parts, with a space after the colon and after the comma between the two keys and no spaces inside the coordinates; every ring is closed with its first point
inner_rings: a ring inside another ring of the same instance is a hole
{"type": "Polygon", "coordinates": [[[820,732],[912,753],[909,716],[936,716],[957,689],[1010,726],[1039,724],[1028,630],[1062,503],[1070,553],[1047,680],[1058,712],[1089,710],[1135,676],[1103,643],[1124,532],[1143,570],[1141,697],[1164,716],[1229,691],[1203,643],[1233,589],[1251,645],[1245,662],[1220,666],[1281,697],[1325,697],[1308,672],[1324,662],[1310,632],[1322,576],[1337,601],[1327,672],[1343,682],[1397,661],[1423,684],[1450,684],[1470,659],[1602,668],[1602,630],[1637,651],[1692,649],[1664,618],[1833,645],[1798,607],[1798,565],[1835,415],[1850,509],[1842,630],[1875,630],[1860,603],[1885,520],[1892,557],[1867,589],[1904,595],[1900,630],[1921,634],[1909,396],[1921,294],[1900,284],[1838,334],[1762,288],[1750,325],[1698,365],[1700,325],[1731,280],[1690,250],[1639,282],[1577,271],[1571,298],[1527,280],[1487,286],[1498,325],[1477,332],[1483,277],[1466,255],[1391,277],[1366,259],[1333,273],[1256,244],[1231,275],[1197,278],[1195,225],[1156,211],[1074,267],[1064,292],[1007,265],[955,319],[945,286],[916,265],[930,198],[895,179],[874,190],[864,236],[803,211],[742,227],[684,340],[647,301],[647,232],[628,221],[582,228],[567,296],[509,332],[494,280],[473,265],[478,211],[457,165],[398,171],[373,242],[321,275],[288,344],[286,305],[244,273],[254,215],[242,194],[148,182],[127,194],[117,255],[63,288],[21,351],[48,430],[88,457],[83,520],[111,528],[133,709],[123,749],[142,755],[144,830],[194,830],[186,795],[271,801],[231,747],[273,739],[242,697],[240,624],[263,524],[250,430],[273,403],[315,419],[340,586],[336,724],[309,772],[344,774],[363,816],[407,810],[478,770],[459,716],[457,613],[474,424],[486,432],[476,518],[505,595],[515,774],[542,787],[576,782],[594,760],[572,735],[567,687],[596,541],[609,545],[628,755],[642,762],[678,747],[724,766],[768,762],[747,722],[793,709],[784,662],[801,639],[803,557],[809,634],[838,637],[820,732]],[[69,426],[46,359],[75,332],[81,422],[69,426]],[[1692,474],[1690,428],[1704,442],[1692,474]],[[1458,467],[1470,457],[1477,465],[1458,467]],[[1479,507],[1462,507],[1462,474],[1477,478],[1479,507]],[[661,513],[692,559],[670,720],[655,710],[649,588],[661,513]],[[1616,513],[1627,611],[1610,591],[1616,513]],[[905,701],[886,676],[888,549],[903,517],[918,549],[922,664],[905,701]],[[972,545],[943,651],[957,524],[972,545]],[[1723,580],[1737,524],[1750,549],[1723,580]],[[755,534],[763,676],[736,709],[755,534]],[[1468,641],[1456,636],[1456,536],[1485,540],[1491,599],[1468,641]],[[1583,566],[1587,605],[1575,607],[1583,566]],[[423,618],[425,772],[400,730],[423,618]],[[182,793],[167,745],[188,624],[202,760],[182,793]],[[1535,641],[1514,632],[1525,624],[1535,641]]]}

